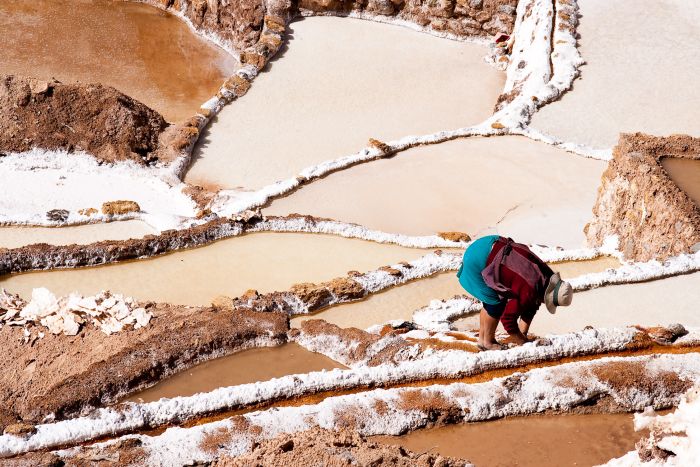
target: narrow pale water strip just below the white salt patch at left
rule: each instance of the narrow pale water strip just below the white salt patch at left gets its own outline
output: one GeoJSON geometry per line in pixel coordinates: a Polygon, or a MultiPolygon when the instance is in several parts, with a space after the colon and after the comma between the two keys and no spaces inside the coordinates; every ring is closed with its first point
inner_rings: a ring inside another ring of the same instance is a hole
{"type": "Polygon", "coordinates": [[[122,221],[77,227],[0,227],[0,248],[34,243],[51,245],[87,244],[100,240],[126,240],[157,233],[145,222],[122,221]]]}

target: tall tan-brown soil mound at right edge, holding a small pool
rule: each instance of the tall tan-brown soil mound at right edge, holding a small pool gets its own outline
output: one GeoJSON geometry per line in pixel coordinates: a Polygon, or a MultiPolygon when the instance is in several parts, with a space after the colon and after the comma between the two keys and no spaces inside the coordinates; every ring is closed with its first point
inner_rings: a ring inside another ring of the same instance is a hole
{"type": "Polygon", "coordinates": [[[687,253],[700,243],[700,207],[670,179],[664,157],[700,160],[700,138],[620,136],[585,228],[591,245],[618,235],[625,258],[648,261],[687,253]]]}

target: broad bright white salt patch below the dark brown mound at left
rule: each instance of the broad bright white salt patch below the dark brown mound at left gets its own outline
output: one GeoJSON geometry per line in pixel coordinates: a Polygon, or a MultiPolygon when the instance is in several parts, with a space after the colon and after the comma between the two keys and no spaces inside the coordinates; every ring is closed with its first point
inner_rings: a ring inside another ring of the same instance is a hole
{"type": "Polygon", "coordinates": [[[54,226],[111,220],[141,219],[158,230],[182,226],[197,207],[182,192],[179,180],[161,168],[144,168],[131,161],[106,164],[86,153],[32,149],[0,158],[0,224],[54,226]],[[172,183],[172,184],[171,184],[172,183]],[[140,213],[105,216],[107,201],[136,201],[140,213]],[[80,214],[94,208],[98,213],[80,214]],[[65,222],[49,220],[47,211],[69,211],[65,222]]]}

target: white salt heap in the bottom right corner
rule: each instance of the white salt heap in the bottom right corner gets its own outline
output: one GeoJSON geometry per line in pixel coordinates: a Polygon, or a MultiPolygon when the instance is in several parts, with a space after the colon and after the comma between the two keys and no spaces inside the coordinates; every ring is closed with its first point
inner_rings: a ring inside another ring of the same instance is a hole
{"type": "Polygon", "coordinates": [[[700,459],[700,385],[695,385],[681,399],[678,408],[668,415],[657,415],[648,408],[634,415],[635,430],[650,430],[642,441],[644,447],[669,452],[666,459],[642,462],[637,451],[607,462],[607,467],[683,467],[697,465],[700,459]]]}

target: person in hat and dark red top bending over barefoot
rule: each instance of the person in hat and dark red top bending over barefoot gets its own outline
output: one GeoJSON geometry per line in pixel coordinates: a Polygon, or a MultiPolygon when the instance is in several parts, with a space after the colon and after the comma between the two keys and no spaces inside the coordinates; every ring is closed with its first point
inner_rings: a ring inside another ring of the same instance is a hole
{"type": "Polygon", "coordinates": [[[535,255],[526,245],[490,235],[475,240],[464,252],[459,283],[484,304],[479,319],[479,349],[502,349],[496,341],[500,319],[509,341],[528,341],[530,323],[542,302],[550,313],[569,306],[571,284],[535,255]],[[520,322],[518,323],[518,318],[520,322]]]}

